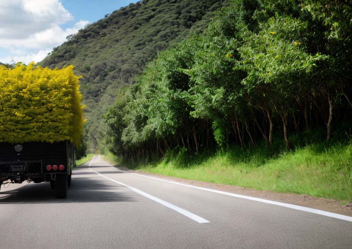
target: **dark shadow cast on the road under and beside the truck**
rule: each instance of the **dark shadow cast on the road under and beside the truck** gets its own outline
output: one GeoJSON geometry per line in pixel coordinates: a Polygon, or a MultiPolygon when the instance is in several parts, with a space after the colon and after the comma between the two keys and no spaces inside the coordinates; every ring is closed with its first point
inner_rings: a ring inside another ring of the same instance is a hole
{"type": "MultiPolygon", "coordinates": [[[[83,174],[83,172],[77,172],[74,174],[83,174]]],[[[20,187],[15,191],[2,191],[1,194],[8,194],[9,196],[0,199],[0,205],[31,203],[134,202],[134,198],[125,194],[125,189],[126,188],[123,186],[109,183],[103,179],[100,180],[96,178],[73,176],[66,199],[57,199],[55,197],[55,190],[50,189],[50,183],[33,183],[20,187]]]]}

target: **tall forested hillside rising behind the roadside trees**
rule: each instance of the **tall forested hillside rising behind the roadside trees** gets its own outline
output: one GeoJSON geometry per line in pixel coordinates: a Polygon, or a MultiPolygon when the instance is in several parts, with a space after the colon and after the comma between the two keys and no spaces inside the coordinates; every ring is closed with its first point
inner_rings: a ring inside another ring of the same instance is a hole
{"type": "Polygon", "coordinates": [[[136,82],[146,62],[189,34],[203,31],[219,0],[144,0],[107,14],[80,30],[39,63],[50,68],[74,65],[82,75],[90,150],[98,149],[105,130],[102,114],[119,89],[136,82]]]}

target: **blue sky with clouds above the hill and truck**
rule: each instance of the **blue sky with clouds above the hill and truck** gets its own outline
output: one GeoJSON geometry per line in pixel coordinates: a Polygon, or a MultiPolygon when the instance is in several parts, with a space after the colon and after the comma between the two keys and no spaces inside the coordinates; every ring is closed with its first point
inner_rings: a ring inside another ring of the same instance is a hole
{"type": "Polygon", "coordinates": [[[89,23],[136,0],[0,0],[0,62],[40,62],[89,23]]]}

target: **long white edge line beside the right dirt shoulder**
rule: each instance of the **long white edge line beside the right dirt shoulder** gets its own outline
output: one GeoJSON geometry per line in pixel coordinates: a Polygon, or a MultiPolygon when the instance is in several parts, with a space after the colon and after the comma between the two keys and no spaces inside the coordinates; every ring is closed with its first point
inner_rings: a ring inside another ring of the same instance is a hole
{"type": "MultiPolygon", "coordinates": [[[[114,167],[110,164],[107,164],[106,162],[104,162],[99,155],[99,159],[105,163],[108,166],[114,167]]],[[[115,168],[115,167],[114,167],[115,168]]],[[[261,198],[256,198],[256,197],[251,197],[251,196],[244,196],[241,194],[234,194],[234,193],[229,193],[229,192],[225,192],[225,191],[220,191],[220,190],[214,190],[214,189],[207,189],[205,187],[197,187],[197,186],[193,186],[193,185],[189,185],[189,184],[183,184],[183,183],[177,183],[175,181],[169,181],[169,180],[164,180],[164,179],[160,179],[160,178],[156,178],[156,177],[150,177],[148,175],[142,175],[142,174],[136,174],[136,173],[131,173],[131,172],[127,172],[127,171],[123,171],[120,169],[115,168],[116,170],[128,173],[128,174],[133,174],[133,175],[139,175],[142,177],[147,177],[147,178],[151,178],[151,179],[155,179],[155,180],[159,180],[159,181],[165,181],[167,183],[172,183],[172,184],[177,184],[177,185],[181,185],[181,186],[186,186],[186,187],[192,187],[194,189],[200,189],[200,190],[205,190],[205,191],[210,191],[210,192],[214,192],[214,193],[218,193],[218,194],[225,194],[227,196],[233,196],[233,197],[238,197],[238,198],[242,198],[242,199],[248,199],[248,200],[254,200],[257,202],[263,202],[263,203],[268,203],[268,204],[272,204],[272,205],[277,205],[277,206],[283,206],[285,208],[290,208],[290,209],[296,209],[296,210],[301,210],[301,211],[305,211],[305,212],[309,212],[309,213],[316,213],[318,215],[323,215],[323,216],[328,216],[328,217],[332,217],[332,218],[337,218],[337,219],[342,219],[344,221],[350,221],[352,222],[352,217],[351,216],[347,216],[347,215],[340,215],[338,213],[332,213],[332,212],[327,212],[327,211],[323,211],[323,210],[319,210],[319,209],[314,209],[314,208],[307,208],[304,206],[298,206],[298,205],[294,205],[294,204],[288,204],[288,203],[282,203],[282,202],[276,202],[274,200],[266,200],[266,199],[261,199],[261,198]]]]}

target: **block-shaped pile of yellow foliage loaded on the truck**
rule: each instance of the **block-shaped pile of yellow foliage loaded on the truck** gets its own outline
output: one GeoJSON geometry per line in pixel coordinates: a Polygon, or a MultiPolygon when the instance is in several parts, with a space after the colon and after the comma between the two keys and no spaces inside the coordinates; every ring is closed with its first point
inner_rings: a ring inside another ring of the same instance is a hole
{"type": "Polygon", "coordinates": [[[59,142],[79,145],[83,106],[73,66],[0,66],[0,142],[59,142]]]}

